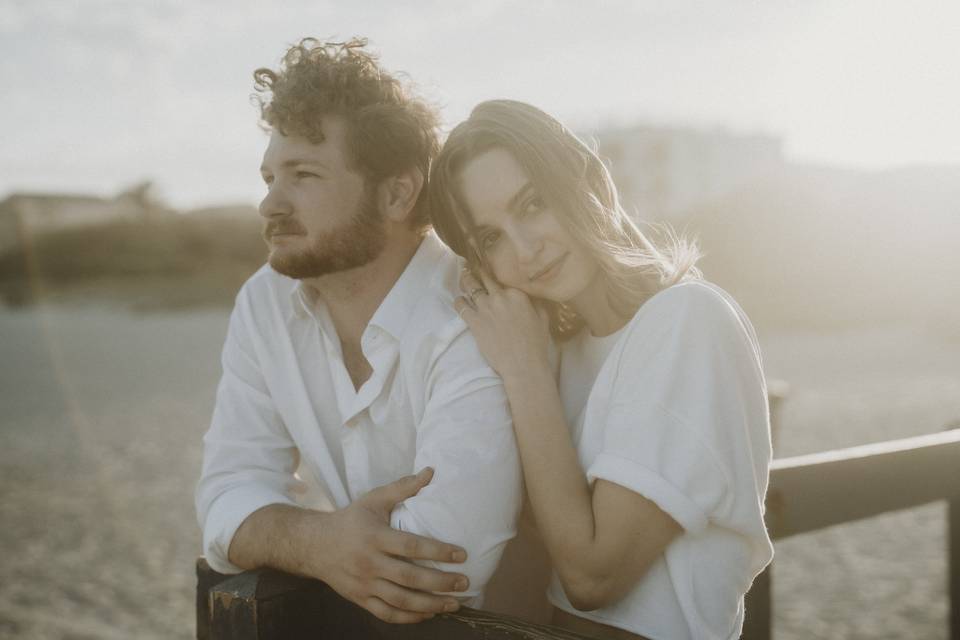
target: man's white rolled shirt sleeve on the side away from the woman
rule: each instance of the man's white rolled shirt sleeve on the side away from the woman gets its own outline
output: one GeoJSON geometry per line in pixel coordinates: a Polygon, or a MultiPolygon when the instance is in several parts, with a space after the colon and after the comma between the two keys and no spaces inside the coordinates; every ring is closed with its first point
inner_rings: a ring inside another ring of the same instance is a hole
{"type": "Polygon", "coordinates": [[[203,469],[195,494],[203,553],[215,570],[238,573],[241,569],[228,559],[234,534],[254,511],[270,504],[294,504],[289,490],[297,460],[257,364],[240,298],[231,316],[223,377],[203,441],[203,469]]]}

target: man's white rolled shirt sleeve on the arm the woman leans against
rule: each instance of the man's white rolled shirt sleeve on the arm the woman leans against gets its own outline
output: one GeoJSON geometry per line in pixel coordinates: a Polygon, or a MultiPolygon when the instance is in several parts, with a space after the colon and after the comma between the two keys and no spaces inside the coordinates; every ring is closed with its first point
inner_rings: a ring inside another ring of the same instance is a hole
{"type": "Polygon", "coordinates": [[[417,431],[414,467],[433,467],[430,485],[394,510],[391,524],[467,551],[463,564],[424,563],[464,573],[477,597],[516,535],[522,484],[500,378],[473,337],[462,333],[438,358],[417,431]]]}

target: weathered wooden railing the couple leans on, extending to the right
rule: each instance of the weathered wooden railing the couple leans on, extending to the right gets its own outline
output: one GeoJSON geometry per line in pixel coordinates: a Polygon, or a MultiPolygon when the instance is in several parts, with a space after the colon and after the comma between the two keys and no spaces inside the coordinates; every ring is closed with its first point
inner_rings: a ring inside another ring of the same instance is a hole
{"type": "MultiPolygon", "coordinates": [[[[852,449],[774,460],[767,524],[774,540],[908,509],[949,503],[950,638],[960,640],[960,429],[852,449]]],[[[389,625],[321,582],[276,571],[236,576],[197,563],[198,640],[583,640],[545,625],[472,609],[389,625]]],[[[744,640],[772,636],[772,566],[747,594],[744,640]]]]}

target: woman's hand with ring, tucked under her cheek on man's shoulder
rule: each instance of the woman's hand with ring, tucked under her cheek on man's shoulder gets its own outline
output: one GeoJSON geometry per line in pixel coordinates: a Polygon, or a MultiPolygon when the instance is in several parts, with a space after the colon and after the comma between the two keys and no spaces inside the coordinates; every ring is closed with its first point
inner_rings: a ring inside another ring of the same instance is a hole
{"type": "Polygon", "coordinates": [[[464,270],[454,307],[473,333],[480,351],[504,380],[531,367],[550,368],[550,331],[546,311],[519,289],[502,287],[486,273],[481,280],[464,270]]]}

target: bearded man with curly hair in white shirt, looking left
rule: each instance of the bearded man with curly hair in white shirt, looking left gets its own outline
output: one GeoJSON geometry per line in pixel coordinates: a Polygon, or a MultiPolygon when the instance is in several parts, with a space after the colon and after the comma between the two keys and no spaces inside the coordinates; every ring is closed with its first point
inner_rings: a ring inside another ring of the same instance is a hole
{"type": "Polygon", "coordinates": [[[254,74],[270,259],[230,319],[197,513],[218,571],[319,578],[418,622],[481,594],[520,470],[427,231],[436,118],[364,46],[306,39],[254,74]],[[310,508],[323,495],[334,510],[310,508]]]}

